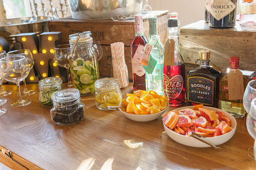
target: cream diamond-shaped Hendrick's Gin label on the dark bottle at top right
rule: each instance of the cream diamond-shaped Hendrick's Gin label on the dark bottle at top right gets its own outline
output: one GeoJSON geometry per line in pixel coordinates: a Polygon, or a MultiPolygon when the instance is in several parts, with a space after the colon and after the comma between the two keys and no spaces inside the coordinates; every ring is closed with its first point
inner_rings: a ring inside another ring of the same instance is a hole
{"type": "Polygon", "coordinates": [[[235,9],[236,5],[230,0],[212,0],[209,12],[216,20],[220,20],[235,9]]]}

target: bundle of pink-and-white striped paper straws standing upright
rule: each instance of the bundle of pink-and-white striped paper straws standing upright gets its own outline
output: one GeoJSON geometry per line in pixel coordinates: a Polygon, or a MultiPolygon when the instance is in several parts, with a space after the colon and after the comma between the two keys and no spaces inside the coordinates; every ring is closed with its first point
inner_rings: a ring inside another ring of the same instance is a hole
{"type": "Polygon", "coordinates": [[[114,42],[110,47],[113,77],[119,81],[120,88],[125,88],[129,82],[127,65],[125,64],[125,45],[123,42],[114,42]]]}

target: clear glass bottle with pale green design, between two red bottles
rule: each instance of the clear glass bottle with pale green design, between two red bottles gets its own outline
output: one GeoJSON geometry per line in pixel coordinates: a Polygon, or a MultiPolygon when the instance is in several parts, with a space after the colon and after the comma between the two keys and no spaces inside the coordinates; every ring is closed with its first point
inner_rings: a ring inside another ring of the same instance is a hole
{"type": "Polygon", "coordinates": [[[160,41],[160,37],[157,35],[157,17],[149,17],[149,39],[148,45],[152,45],[151,56],[156,59],[157,63],[152,74],[145,73],[146,90],[155,91],[157,94],[164,94],[163,89],[163,56],[164,45],[160,41]]]}

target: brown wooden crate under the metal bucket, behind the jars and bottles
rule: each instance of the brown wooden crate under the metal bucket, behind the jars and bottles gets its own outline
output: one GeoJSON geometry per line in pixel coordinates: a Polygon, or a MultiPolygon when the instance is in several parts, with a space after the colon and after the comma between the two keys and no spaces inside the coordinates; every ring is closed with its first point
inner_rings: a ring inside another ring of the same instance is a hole
{"type": "MultiPolygon", "coordinates": [[[[169,19],[169,11],[151,11],[150,13],[142,13],[145,17],[156,16],[158,34],[161,41],[164,38],[167,22],[169,19]]],[[[100,75],[102,77],[111,76],[111,48],[113,42],[124,42],[125,44],[125,61],[128,67],[129,79],[132,79],[131,69],[131,48],[130,44],[135,36],[135,20],[74,20],[71,17],[51,20],[48,23],[49,31],[61,31],[61,44],[68,43],[68,35],[91,31],[94,40],[100,41],[103,48],[103,56],[100,59],[100,75]]],[[[149,38],[148,19],[143,20],[144,34],[149,38]]]]}

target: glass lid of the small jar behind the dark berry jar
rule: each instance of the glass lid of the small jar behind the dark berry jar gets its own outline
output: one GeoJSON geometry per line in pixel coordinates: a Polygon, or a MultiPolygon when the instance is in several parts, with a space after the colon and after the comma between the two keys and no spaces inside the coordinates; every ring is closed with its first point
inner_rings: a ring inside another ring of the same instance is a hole
{"type": "Polygon", "coordinates": [[[62,79],[60,77],[47,77],[39,80],[38,82],[38,88],[40,91],[54,90],[59,86],[62,86],[62,79]]]}

